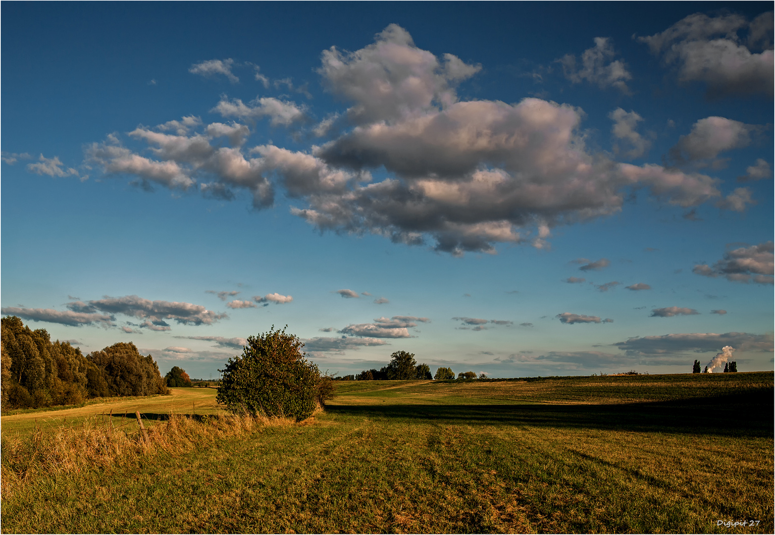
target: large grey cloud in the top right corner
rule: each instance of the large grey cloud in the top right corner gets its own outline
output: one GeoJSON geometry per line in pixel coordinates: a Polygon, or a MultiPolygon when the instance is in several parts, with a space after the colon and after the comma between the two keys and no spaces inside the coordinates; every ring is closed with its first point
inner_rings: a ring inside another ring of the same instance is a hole
{"type": "Polygon", "coordinates": [[[639,37],[678,69],[678,80],[704,81],[709,96],[773,93],[772,13],[749,23],[736,14],[694,13],[661,33],[639,37]],[[749,29],[748,43],[739,32],[749,29]],[[756,47],[763,50],[752,52],[756,47]]]}

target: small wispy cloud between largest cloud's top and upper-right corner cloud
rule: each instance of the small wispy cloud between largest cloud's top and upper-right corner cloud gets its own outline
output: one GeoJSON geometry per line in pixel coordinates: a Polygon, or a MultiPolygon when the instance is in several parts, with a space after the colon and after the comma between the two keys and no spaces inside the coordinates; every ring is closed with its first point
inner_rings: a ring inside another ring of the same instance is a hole
{"type": "Polygon", "coordinates": [[[581,54],[580,65],[577,65],[576,56],[573,54],[566,54],[559,61],[563,65],[563,74],[574,84],[586,80],[597,84],[601,89],[615,87],[629,95],[626,81],[632,79],[632,74],[627,71],[624,61],[612,61],[614,56],[614,47],[608,43],[608,37],[595,37],[594,47],[584,50],[581,54]]]}

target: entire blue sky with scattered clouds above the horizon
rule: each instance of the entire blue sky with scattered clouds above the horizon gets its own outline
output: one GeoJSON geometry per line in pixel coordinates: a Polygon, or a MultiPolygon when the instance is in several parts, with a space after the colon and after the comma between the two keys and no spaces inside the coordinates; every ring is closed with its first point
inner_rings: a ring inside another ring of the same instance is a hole
{"type": "Polygon", "coordinates": [[[3,2],[2,314],[194,378],[286,325],[334,375],[773,370],[771,9],[3,2]]]}

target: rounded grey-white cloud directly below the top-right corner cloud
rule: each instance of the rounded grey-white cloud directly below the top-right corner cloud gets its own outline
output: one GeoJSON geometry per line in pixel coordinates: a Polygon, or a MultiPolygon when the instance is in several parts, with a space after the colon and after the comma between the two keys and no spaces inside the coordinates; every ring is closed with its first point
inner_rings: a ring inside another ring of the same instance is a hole
{"type": "Polygon", "coordinates": [[[670,159],[677,164],[715,165],[715,157],[726,150],[747,147],[750,134],[758,129],[725,117],[706,117],[691,127],[691,133],[680,136],[670,149],[670,159]]]}

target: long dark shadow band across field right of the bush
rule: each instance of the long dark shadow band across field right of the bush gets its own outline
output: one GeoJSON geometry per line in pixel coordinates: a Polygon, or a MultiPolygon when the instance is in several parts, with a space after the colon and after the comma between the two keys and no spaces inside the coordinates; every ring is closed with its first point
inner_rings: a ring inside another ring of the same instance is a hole
{"type": "Polygon", "coordinates": [[[546,426],[601,430],[773,436],[770,391],[620,405],[327,406],[342,416],[432,420],[443,424],[546,426]]]}

